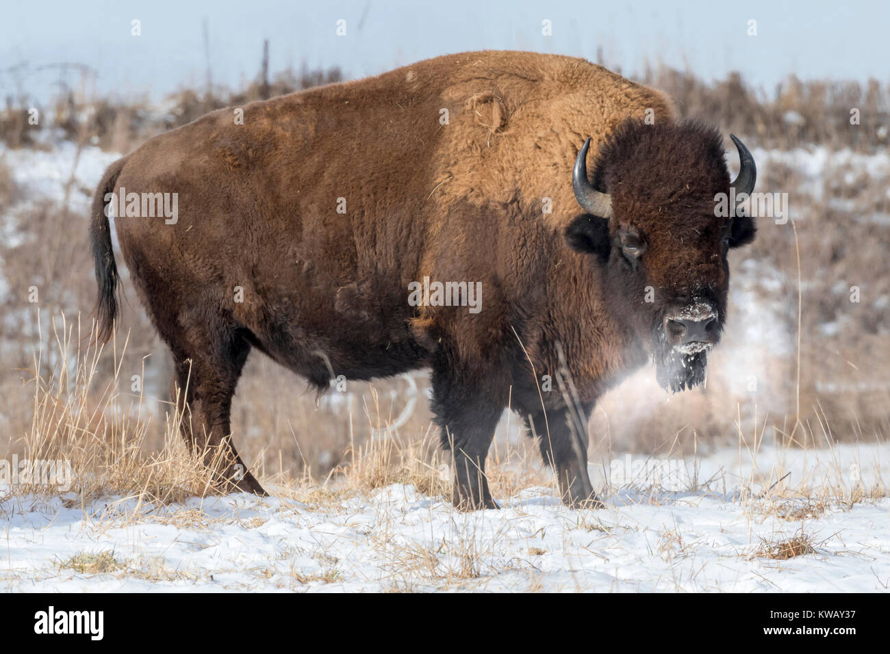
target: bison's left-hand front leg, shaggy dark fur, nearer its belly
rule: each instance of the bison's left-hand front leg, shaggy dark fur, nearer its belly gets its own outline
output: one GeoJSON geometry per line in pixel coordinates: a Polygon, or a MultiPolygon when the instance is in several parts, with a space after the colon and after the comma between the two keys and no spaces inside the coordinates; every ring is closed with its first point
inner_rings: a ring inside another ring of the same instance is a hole
{"type": "Polygon", "coordinates": [[[504,410],[493,390],[433,369],[433,413],[441,428],[442,447],[452,455],[451,501],[461,511],[499,508],[491,498],[485,476],[485,457],[504,410]]]}

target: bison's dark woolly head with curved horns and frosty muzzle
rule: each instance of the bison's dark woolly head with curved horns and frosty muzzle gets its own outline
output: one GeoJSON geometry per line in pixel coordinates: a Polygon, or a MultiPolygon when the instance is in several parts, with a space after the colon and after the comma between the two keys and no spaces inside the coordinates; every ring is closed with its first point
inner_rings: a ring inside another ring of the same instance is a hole
{"type": "Polygon", "coordinates": [[[726,255],[754,238],[750,217],[726,216],[716,202],[718,194],[744,198],[754,189],[754,159],[732,141],[741,160],[734,182],[716,129],[631,120],[601,146],[592,182],[589,139],[572,174],[587,213],[570,222],[568,243],[598,258],[610,311],[643,343],[670,391],[704,380],[726,316],[726,255]]]}

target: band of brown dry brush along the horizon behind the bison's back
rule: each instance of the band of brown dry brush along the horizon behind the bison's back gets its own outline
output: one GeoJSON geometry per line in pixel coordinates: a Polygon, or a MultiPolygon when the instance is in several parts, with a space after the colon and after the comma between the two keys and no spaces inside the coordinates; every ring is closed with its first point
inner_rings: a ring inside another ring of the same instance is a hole
{"type": "MultiPolygon", "coordinates": [[[[65,138],[75,140],[84,134],[88,142],[102,148],[129,152],[146,138],[185,125],[208,111],[344,79],[336,68],[285,69],[266,82],[257,75],[238,90],[183,88],[169,95],[165,111],[159,112],[147,111],[144,99],[89,97],[92,75],[83,70],[74,87],[62,78],[61,92],[45,106],[28,93],[7,97],[0,110],[0,139],[12,148],[38,147],[40,131],[54,126],[65,138]],[[38,109],[43,117],[38,125],[28,124],[29,109],[38,109]]],[[[890,142],[886,130],[890,86],[875,79],[862,85],[843,80],[804,82],[789,76],[767,92],[750,87],[738,73],[708,83],[690,72],[659,66],[645,70],[639,81],[669,93],[684,116],[708,117],[733,133],[756,137],[767,147],[787,149],[808,142],[877,151],[890,142]],[[850,125],[853,108],[861,111],[861,125],[850,125]]]]}

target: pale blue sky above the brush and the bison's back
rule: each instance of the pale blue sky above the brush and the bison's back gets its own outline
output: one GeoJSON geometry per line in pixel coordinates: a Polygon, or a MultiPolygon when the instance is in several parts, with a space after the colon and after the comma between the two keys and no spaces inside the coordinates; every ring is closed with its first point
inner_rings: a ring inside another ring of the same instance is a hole
{"type": "MultiPolygon", "coordinates": [[[[794,73],[890,83],[890,3],[781,0],[0,0],[0,100],[20,89],[45,97],[60,78],[54,64],[85,64],[100,93],[159,99],[182,85],[203,87],[207,20],[214,83],[253,78],[263,39],[271,72],[305,62],[365,77],[447,52],[480,49],[558,52],[596,59],[633,77],[647,62],[724,77],[733,69],[757,86],[794,73]],[[142,21],[142,36],[131,21],[142,21]],[[336,21],[346,21],[346,36],[336,21]],[[552,36],[543,36],[550,20],[552,36]],[[756,36],[748,21],[756,20],[756,36]],[[25,69],[13,69],[19,64],[25,69]]],[[[76,82],[71,74],[69,82],[76,82]]]]}

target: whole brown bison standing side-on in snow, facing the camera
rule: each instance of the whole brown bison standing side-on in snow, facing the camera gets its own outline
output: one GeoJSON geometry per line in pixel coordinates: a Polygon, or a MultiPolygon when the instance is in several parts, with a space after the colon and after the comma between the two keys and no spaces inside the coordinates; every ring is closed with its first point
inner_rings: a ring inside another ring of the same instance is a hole
{"type": "Polygon", "coordinates": [[[214,111],[102,178],[97,336],[117,318],[113,213],[173,352],[184,436],[223,491],[263,494],[230,433],[258,350],[320,390],[431,369],[461,508],[497,506],[485,458],[507,407],[563,501],[600,506],[587,475],[597,398],[647,361],[668,391],[700,384],[724,326],[727,252],[755,233],[744,212],[715,210],[754,187],[732,141],[734,182],[720,133],[681,121],[665,95],[530,52],[438,57],[214,111]],[[158,194],[172,218],[140,211],[158,194]]]}

